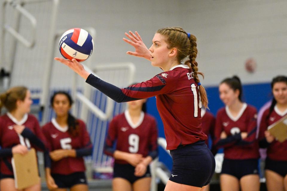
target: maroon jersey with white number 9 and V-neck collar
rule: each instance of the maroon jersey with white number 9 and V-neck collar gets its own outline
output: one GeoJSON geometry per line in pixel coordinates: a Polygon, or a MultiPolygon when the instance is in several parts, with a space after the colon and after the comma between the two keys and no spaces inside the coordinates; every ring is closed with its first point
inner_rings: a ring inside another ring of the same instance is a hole
{"type": "MultiPolygon", "coordinates": [[[[143,157],[150,155],[154,158],[157,154],[157,126],[155,118],[144,112],[141,113],[138,124],[133,124],[129,111],[117,115],[109,124],[108,135],[106,137],[105,153],[113,156],[114,150],[111,148],[115,141],[116,149],[126,153],[138,153],[143,157]]],[[[115,163],[128,164],[123,160],[115,160],[115,163]]]]}

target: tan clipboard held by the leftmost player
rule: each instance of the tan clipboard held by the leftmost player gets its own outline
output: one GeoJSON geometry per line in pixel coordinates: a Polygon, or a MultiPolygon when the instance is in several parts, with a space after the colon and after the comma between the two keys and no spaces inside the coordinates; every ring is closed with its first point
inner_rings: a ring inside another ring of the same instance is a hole
{"type": "Polygon", "coordinates": [[[13,154],[12,167],[15,187],[19,190],[39,184],[38,164],[36,152],[31,148],[27,154],[13,154]]]}

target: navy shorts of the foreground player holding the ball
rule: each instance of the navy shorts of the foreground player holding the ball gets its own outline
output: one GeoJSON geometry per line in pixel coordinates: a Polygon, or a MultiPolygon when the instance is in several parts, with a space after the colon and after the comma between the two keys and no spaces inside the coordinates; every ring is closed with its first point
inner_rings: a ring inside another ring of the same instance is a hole
{"type": "Polygon", "coordinates": [[[195,187],[210,183],[215,160],[204,141],[171,150],[170,154],[173,161],[170,181],[195,187]]]}

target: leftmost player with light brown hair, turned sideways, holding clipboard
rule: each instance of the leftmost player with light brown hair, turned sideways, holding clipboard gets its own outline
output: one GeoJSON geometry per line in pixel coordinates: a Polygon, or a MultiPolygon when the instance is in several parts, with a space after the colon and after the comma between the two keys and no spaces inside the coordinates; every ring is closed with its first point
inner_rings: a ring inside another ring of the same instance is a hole
{"type": "MultiPolygon", "coordinates": [[[[1,107],[4,106],[8,111],[0,117],[0,190],[16,191],[11,164],[12,155],[14,153],[25,155],[31,147],[36,150],[47,151],[44,145],[45,137],[37,119],[28,114],[32,100],[30,91],[26,87],[10,88],[0,95],[0,100],[1,107]]],[[[45,166],[47,167],[47,165],[47,160],[45,160],[45,166]]],[[[24,190],[41,190],[40,182],[24,190]]]]}

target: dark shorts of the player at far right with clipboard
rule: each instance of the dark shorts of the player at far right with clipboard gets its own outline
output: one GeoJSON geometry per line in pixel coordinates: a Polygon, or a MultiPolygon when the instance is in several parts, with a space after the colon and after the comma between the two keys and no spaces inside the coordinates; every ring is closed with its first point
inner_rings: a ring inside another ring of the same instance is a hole
{"type": "Polygon", "coordinates": [[[265,160],[265,170],[272,170],[284,178],[287,175],[287,161],[274,161],[267,157],[265,160]]]}

